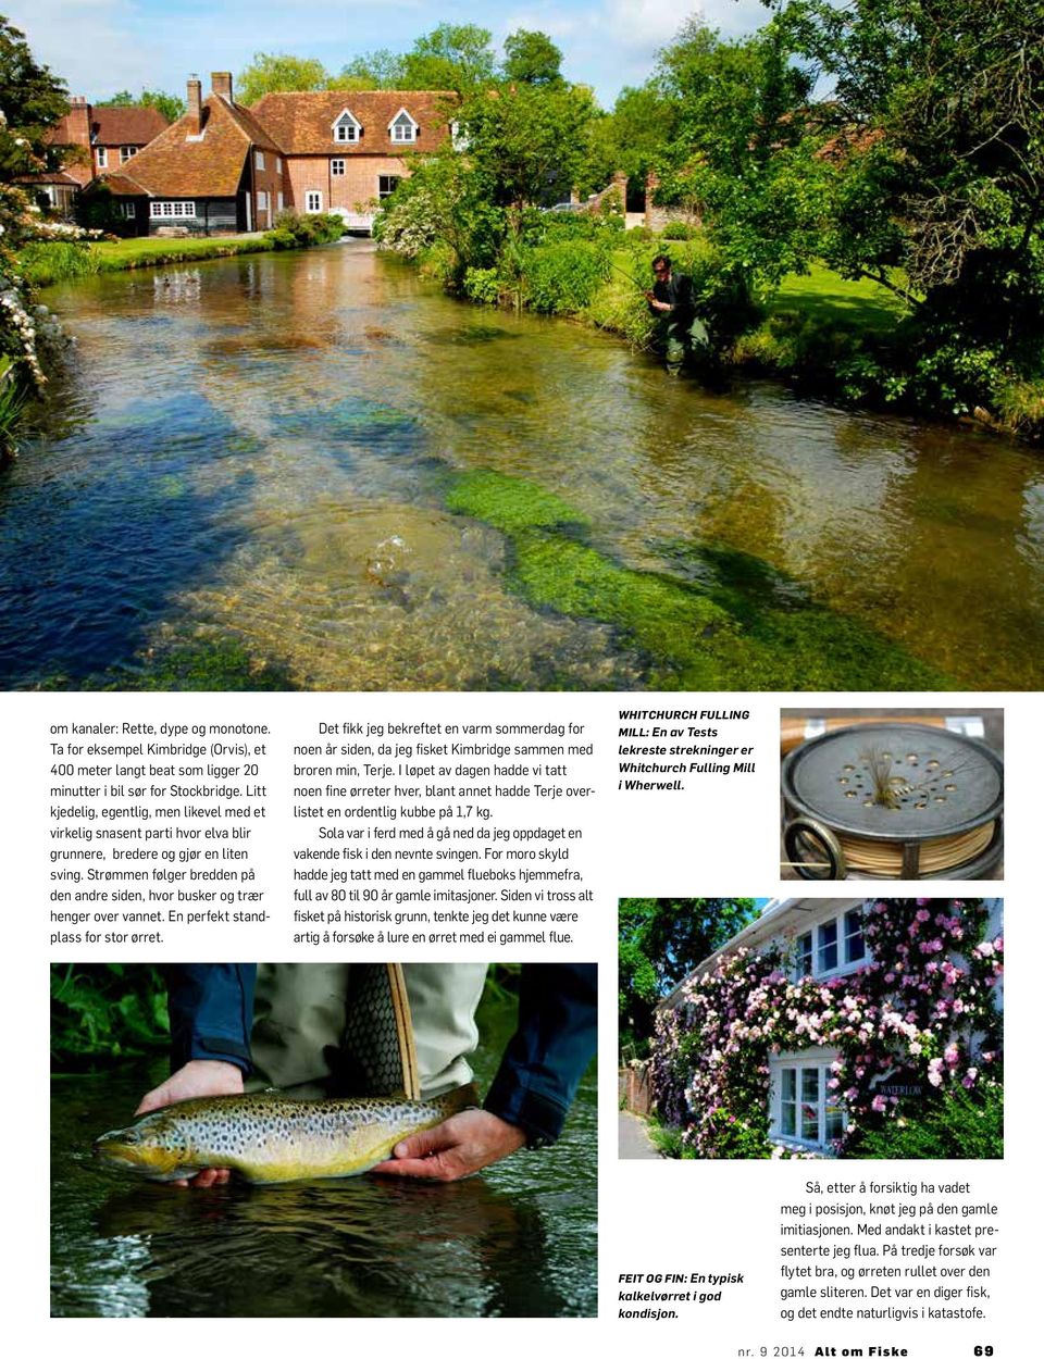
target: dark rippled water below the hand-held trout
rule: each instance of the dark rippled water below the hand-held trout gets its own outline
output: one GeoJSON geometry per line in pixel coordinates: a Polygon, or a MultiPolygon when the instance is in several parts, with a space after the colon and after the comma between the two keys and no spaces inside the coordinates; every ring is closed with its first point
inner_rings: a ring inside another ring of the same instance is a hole
{"type": "MultiPolygon", "coordinates": [[[[488,1056],[478,1074],[488,1083],[488,1056]]],[[[91,1139],[125,1125],[155,1076],[54,1080],[53,1316],[595,1314],[593,1076],[553,1147],[457,1184],[359,1176],[209,1190],[105,1174],[91,1158],[91,1139]]]]}

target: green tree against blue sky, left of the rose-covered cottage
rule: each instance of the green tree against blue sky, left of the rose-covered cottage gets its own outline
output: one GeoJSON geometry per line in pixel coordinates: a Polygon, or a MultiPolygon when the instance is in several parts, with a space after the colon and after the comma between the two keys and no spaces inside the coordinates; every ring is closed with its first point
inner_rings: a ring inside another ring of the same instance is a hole
{"type": "Polygon", "coordinates": [[[643,1048],[657,1004],[757,916],[753,897],[625,897],[620,902],[620,1041],[643,1048]]]}

